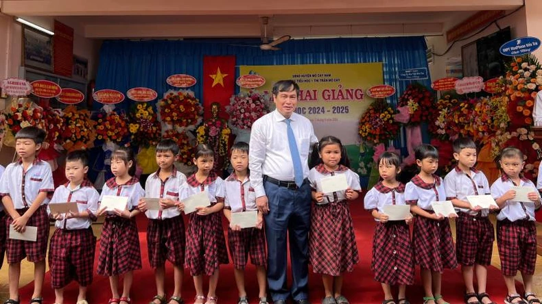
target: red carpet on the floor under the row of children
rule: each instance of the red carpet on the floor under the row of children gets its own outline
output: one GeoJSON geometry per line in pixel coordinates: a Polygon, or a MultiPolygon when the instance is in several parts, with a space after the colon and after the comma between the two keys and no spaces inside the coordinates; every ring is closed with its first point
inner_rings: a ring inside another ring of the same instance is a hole
{"type": "MultiPolygon", "coordinates": [[[[344,277],[343,294],[351,301],[352,304],[362,303],[381,303],[383,293],[380,284],[373,280],[373,274],[370,272],[370,255],[374,231],[373,218],[368,212],[363,210],[362,201],[356,201],[351,204],[351,211],[357,235],[357,247],[360,251],[361,262],[358,264],[353,273],[346,274],[344,277]]],[[[225,220],[224,220],[225,221],[225,220]]],[[[185,222],[187,223],[187,222],[185,222]]],[[[145,217],[140,216],[138,220],[139,238],[141,240],[141,256],[143,259],[143,270],[134,273],[134,283],[132,286],[132,299],[134,304],[147,304],[152,296],[156,293],[154,286],[154,273],[148,266],[147,242],[145,237],[146,222],[145,217]]],[[[99,246],[99,245],[98,245],[99,246]]],[[[96,251],[97,256],[97,251],[96,251]]],[[[422,303],[423,288],[419,279],[419,271],[416,271],[418,277],[414,286],[407,288],[407,297],[412,303],[422,303]]],[[[172,267],[167,266],[167,291],[168,295],[173,292],[173,271],[172,267]]],[[[51,289],[51,277],[47,273],[45,275],[45,283],[43,288],[43,298],[45,304],[54,303],[54,290],[51,289]]],[[[255,271],[252,266],[248,267],[246,275],[246,290],[250,299],[257,298],[257,282],[255,279],[255,271]]],[[[120,286],[122,286],[120,284],[120,286]]],[[[320,276],[311,273],[309,277],[310,300],[311,303],[320,303],[324,291],[320,276]]],[[[21,301],[27,303],[32,296],[33,283],[21,288],[21,301]]],[[[521,290],[521,289],[520,289],[521,290]]],[[[206,288],[207,291],[207,288],[206,288]]],[[[463,303],[462,294],[464,287],[460,269],[447,270],[443,274],[443,294],[445,299],[451,303],[463,303]]],[[[67,286],[64,294],[64,303],[75,303],[77,299],[78,287],[75,283],[67,286]]],[[[506,288],[502,279],[501,273],[497,268],[490,267],[488,269],[488,293],[493,295],[493,301],[502,303],[502,299],[506,294],[506,288]]],[[[188,271],[185,271],[185,280],[183,285],[183,298],[187,304],[193,303],[195,291],[193,288],[192,278],[188,271]]],[[[220,279],[217,288],[217,296],[219,303],[234,304],[237,303],[237,288],[233,279],[233,266],[231,264],[220,268],[220,279]]],[[[109,282],[107,277],[95,275],[92,286],[89,287],[88,301],[91,304],[107,303],[110,298],[109,282]]],[[[251,303],[254,303],[252,301],[251,303]]]]}

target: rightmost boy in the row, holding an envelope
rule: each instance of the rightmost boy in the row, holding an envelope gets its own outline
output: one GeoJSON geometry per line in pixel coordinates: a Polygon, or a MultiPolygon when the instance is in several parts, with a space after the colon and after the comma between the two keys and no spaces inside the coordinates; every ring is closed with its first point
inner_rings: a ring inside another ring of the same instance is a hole
{"type": "Polygon", "coordinates": [[[501,271],[508,294],[504,303],[521,301],[516,291],[515,275],[517,270],[523,277],[524,299],[529,303],[537,302],[537,295],[532,292],[532,275],[537,261],[537,227],[534,225],[534,211],[541,205],[540,194],[534,183],[523,177],[521,171],[523,153],[514,147],[501,151],[499,165],[502,176],[491,185],[491,195],[501,208],[497,214],[497,248],[501,259],[501,271]],[[514,186],[532,188],[528,193],[531,202],[515,201],[514,186]],[[518,300],[519,299],[519,300],[518,300]]]}

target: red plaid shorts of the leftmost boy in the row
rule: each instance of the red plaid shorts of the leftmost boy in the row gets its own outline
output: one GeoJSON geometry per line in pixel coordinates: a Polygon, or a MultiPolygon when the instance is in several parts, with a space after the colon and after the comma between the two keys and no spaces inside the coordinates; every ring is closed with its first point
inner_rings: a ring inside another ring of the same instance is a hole
{"type": "MultiPolygon", "coordinates": [[[[18,209],[20,215],[25,214],[28,209],[18,209]]],[[[13,223],[11,216],[6,216],[5,229],[7,234],[10,231],[10,225],[13,223]]],[[[8,264],[19,263],[25,257],[29,262],[45,261],[47,256],[47,242],[49,241],[49,215],[47,214],[47,205],[41,205],[26,223],[27,226],[38,228],[38,237],[36,242],[12,240],[6,236],[6,255],[8,256],[8,264]]]]}

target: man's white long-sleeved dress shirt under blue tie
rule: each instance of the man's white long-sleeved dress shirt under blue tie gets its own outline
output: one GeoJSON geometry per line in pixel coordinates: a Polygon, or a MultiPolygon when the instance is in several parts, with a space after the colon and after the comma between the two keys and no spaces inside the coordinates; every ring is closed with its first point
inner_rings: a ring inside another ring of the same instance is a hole
{"type": "MultiPolygon", "coordinates": [[[[294,165],[288,145],[286,118],[274,110],[252,124],[250,131],[250,150],[248,153],[250,182],[256,197],[263,197],[263,175],[280,181],[294,181],[294,165]]],[[[296,144],[301,156],[303,177],[309,176],[309,151],[312,144],[318,142],[314,135],[311,121],[296,113],[290,116],[296,144]]]]}

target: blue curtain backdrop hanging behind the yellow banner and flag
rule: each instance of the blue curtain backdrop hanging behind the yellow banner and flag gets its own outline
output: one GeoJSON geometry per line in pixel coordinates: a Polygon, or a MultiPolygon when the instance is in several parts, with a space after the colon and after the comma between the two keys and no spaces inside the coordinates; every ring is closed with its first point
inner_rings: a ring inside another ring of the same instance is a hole
{"type": "MultiPolygon", "coordinates": [[[[96,90],[110,88],[126,93],[143,86],[156,90],[161,98],[167,90],[175,89],[165,82],[169,75],[189,74],[198,80],[190,89],[201,101],[203,56],[235,55],[237,66],[383,62],[384,84],[397,90],[389,101],[397,104],[411,82],[397,79],[398,71],[427,68],[423,36],[290,40],[280,45],[280,51],[261,51],[260,43],[259,39],[108,40],[100,51],[96,90]]],[[[236,73],[238,77],[238,68],[236,73]]],[[[430,85],[429,79],[418,81],[430,85]]],[[[117,106],[126,108],[128,103],[117,106]]],[[[101,106],[93,103],[94,110],[101,106]]],[[[427,142],[427,132],[423,133],[427,142]]],[[[405,137],[394,140],[394,147],[405,153],[405,137]]]]}

